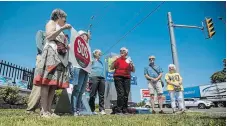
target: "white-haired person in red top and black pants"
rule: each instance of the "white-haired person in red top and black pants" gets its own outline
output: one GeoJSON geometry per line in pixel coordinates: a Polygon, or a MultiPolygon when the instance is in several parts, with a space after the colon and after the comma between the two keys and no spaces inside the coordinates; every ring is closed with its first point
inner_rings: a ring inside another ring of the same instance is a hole
{"type": "Polygon", "coordinates": [[[130,57],[127,57],[128,49],[120,49],[120,57],[111,66],[114,71],[114,83],[117,92],[116,114],[128,114],[128,96],[131,86],[131,72],[135,72],[134,64],[130,57]]]}

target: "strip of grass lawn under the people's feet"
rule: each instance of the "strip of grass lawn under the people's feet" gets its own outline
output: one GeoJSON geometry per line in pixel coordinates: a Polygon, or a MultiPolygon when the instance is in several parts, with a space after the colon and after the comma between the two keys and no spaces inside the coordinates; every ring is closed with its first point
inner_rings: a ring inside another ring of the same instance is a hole
{"type": "Polygon", "coordinates": [[[202,113],[166,115],[62,116],[44,119],[25,110],[0,109],[0,126],[225,126],[226,118],[202,113]]]}

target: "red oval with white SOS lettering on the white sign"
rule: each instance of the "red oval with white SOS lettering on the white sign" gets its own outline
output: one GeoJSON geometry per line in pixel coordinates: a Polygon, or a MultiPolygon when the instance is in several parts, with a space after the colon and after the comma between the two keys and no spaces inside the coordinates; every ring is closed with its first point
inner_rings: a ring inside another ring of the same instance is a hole
{"type": "Polygon", "coordinates": [[[74,55],[82,68],[86,68],[89,65],[90,53],[84,39],[80,36],[76,38],[74,43],[74,55]]]}

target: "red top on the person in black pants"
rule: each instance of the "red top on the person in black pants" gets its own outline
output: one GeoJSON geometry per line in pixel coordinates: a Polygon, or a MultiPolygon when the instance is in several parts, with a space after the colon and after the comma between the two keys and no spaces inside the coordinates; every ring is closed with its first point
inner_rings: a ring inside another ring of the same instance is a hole
{"type": "Polygon", "coordinates": [[[118,59],[116,59],[115,63],[114,63],[114,77],[115,76],[123,76],[126,78],[130,78],[131,77],[131,71],[132,71],[132,67],[129,63],[126,63],[126,58],[120,57],[118,59]]]}

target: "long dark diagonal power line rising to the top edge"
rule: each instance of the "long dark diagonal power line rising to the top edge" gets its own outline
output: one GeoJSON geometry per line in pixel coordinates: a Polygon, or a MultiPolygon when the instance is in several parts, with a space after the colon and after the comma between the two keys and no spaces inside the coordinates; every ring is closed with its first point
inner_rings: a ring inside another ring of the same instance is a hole
{"type": "Polygon", "coordinates": [[[140,22],[138,22],[132,29],[130,29],[128,32],[126,32],[115,44],[113,44],[103,55],[105,55],[108,51],[110,51],[115,45],[117,45],[122,39],[124,39],[129,33],[131,33],[137,26],[139,26],[141,23],[143,23],[151,14],[156,12],[163,4],[165,1],[160,3],[155,9],[153,9],[146,17],[144,17],[140,22]]]}

